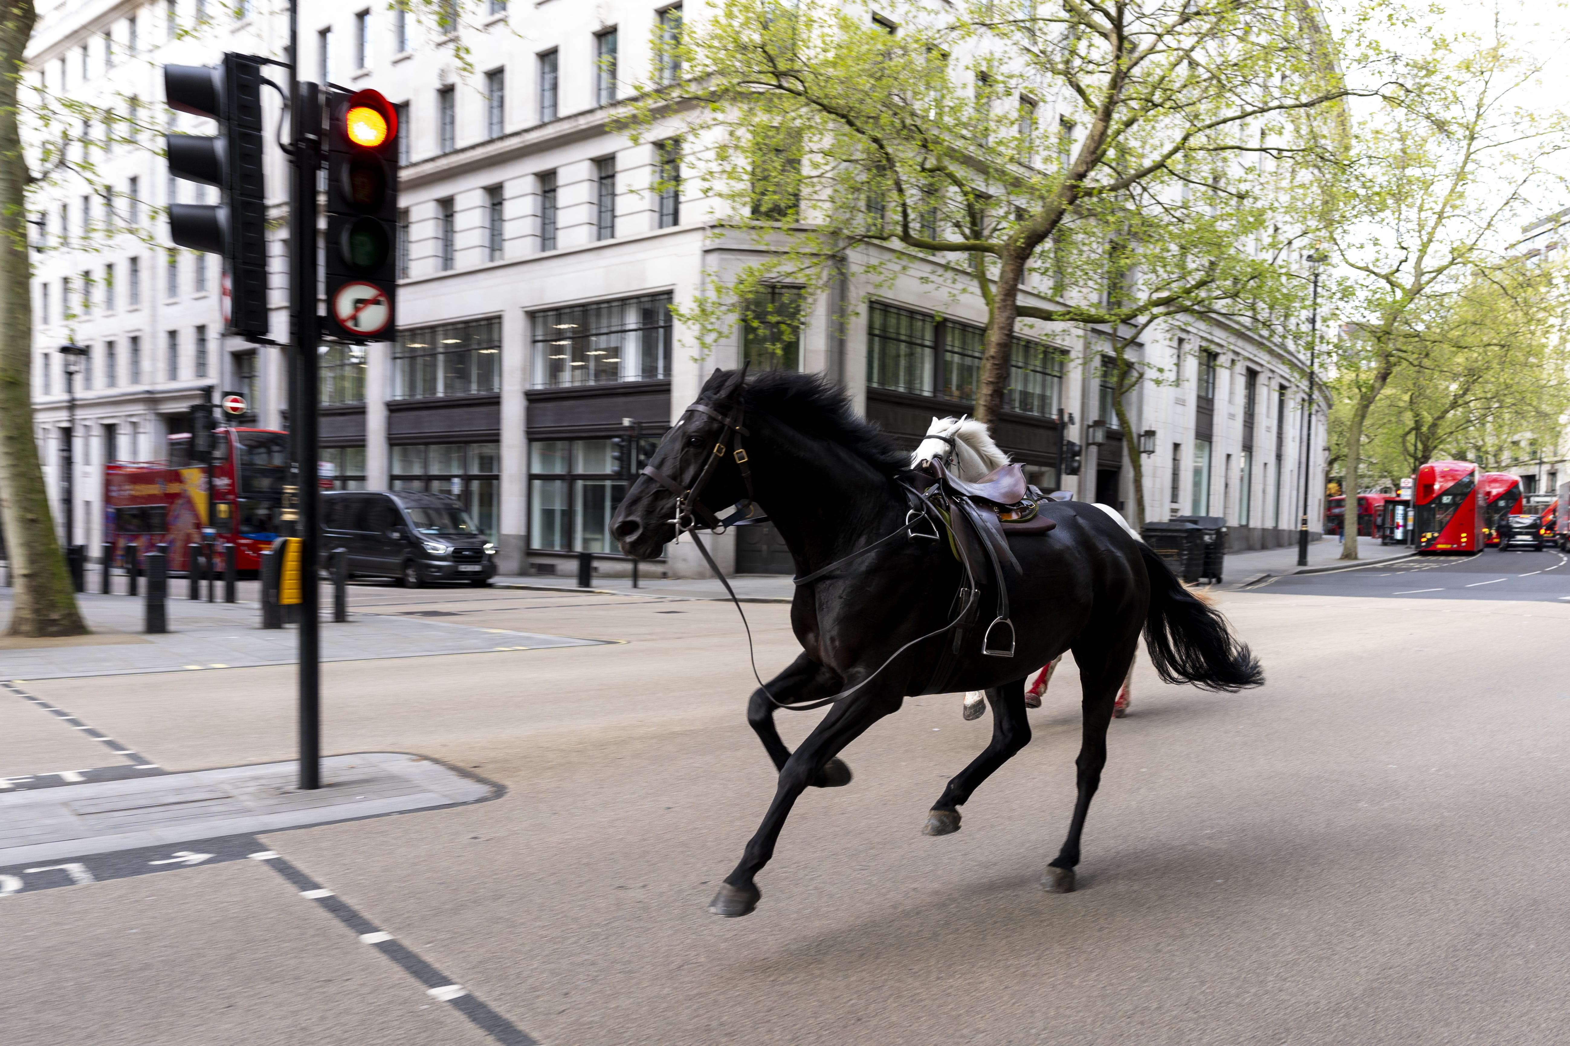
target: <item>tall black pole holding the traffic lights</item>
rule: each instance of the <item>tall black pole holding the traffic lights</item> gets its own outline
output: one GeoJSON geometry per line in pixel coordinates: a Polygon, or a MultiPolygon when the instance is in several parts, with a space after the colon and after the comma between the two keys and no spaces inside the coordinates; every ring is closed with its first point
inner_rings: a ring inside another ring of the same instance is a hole
{"type": "Polygon", "coordinates": [[[300,80],[298,0],[289,5],[292,182],[289,190],[289,441],[300,538],[300,787],[322,787],[322,692],[317,591],[317,179],[322,110],[316,83],[300,80]]]}

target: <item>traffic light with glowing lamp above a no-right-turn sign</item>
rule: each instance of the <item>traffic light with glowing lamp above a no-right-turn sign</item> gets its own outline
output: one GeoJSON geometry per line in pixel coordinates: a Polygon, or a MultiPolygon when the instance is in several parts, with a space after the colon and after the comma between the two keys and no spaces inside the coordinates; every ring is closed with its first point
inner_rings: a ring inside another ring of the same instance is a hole
{"type": "Polygon", "coordinates": [[[391,336],[397,301],[397,110],[377,91],[328,96],[327,334],[391,336]]]}

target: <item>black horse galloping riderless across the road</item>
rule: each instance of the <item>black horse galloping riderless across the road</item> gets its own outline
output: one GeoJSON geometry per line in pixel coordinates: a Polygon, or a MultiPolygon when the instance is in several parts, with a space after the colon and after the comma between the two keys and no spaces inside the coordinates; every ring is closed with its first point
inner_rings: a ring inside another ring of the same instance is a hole
{"type": "MultiPolygon", "coordinates": [[[[1041,511],[1057,528],[1008,541],[1024,574],[1006,582],[1019,637],[1013,656],[983,656],[981,629],[962,634],[956,654],[944,626],[953,619],[966,571],[947,539],[909,536],[907,483],[915,474],[907,458],[821,378],[774,372],[746,380],[743,372],[716,372],[648,466],[611,521],[628,555],[658,555],[677,536],[678,521],[683,527],[692,525],[694,514],[713,521],[716,511],[750,496],[790,547],[798,577],[851,557],[798,587],[791,626],[802,654],[752,693],[747,721],[774,759],[779,787],[741,864],[710,903],[716,914],[744,916],[757,906],[761,892],[754,877],[772,856],[796,798],[807,786],[848,784],[849,767],[835,756],[896,712],[906,695],[984,688],[992,706],[991,743],[948,783],[928,817],[928,834],[948,834],[958,831],[959,806],[977,786],[1030,742],[1024,693],[1030,671],[1074,651],[1085,717],[1079,801],[1063,850],[1042,880],[1046,889],[1068,892],[1085,814],[1107,762],[1112,706],[1140,629],[1167,682],[1236,692],[1264,681],[1226,621],[1190,594],[1148,546],[1085,502],[1046,503],[1041,511]],[[774,728],[774,709],[838,693],[846,696],[832,703],[791,753],[774,728]]],[[[980,605],[991,607],[997,579],[988,572],[977,580],[980,605]]]]}

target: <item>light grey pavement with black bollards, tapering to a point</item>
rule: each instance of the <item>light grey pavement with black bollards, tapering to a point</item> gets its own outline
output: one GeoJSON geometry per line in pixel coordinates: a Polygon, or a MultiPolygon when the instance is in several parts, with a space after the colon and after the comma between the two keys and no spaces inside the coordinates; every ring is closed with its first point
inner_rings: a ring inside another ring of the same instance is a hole
{"type": "MultiPolygon", "coordinates": [[[[0,590],[0,618],[9,613],[9,590],[0,590]]],[[[171,599],[170,632],[135,635],[143,604],[126,596],[78,594],[77,605],[107,645],[42,643],[0,648],[0,679],[72,679],[160,671],[206,671],[289,665],[297,659],[294,627],[262,629],[254,604],[209,604],[171,599]],[[132,640],[127,643],[127,640],[132,640]]],[[[349,621],[322,623],[322,660],[380,660],[438,654],[593,646],[606,640],[542,635],[512,629],[473,627],[451,621],[350,613],[349,621]]]]}

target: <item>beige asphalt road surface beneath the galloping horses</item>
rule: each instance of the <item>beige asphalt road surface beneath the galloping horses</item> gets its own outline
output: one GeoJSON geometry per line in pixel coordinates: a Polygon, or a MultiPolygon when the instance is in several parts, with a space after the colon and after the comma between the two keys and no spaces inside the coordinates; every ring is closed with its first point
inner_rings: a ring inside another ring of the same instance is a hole
{"type": "MultiPolygon", "coordinates": [[[[991,725],[909,699],[846,751],[849,787],[798,803],[746,919],[703,911],[772,794],[728,605],[389,590],[360,608],[622,643],[327,665],[328,751],[506,794],[257,845],[553,1046],[1561,1043],[1570,588],[1539,588],[1561,561],[1221,593],[1269,682],[1209,695],[1141,662],[1075,894],[1036,886],[1072,804],[1072,666],[940,839],[926,809],[991,725]]],[[[785,610],[747,607],[765,671],[794,654],[785,610]]],[[[25,688],[170,770],[292,754],[289,668],[25,688]]],[[[0,701],[28,773],[82,765],[0,701]]],[[[780,715],[793,743],[821,714],[780,715]]],[[[171,869],[0,897],[0,1040],[499,1041],[265,861],[171,869]]]]}

